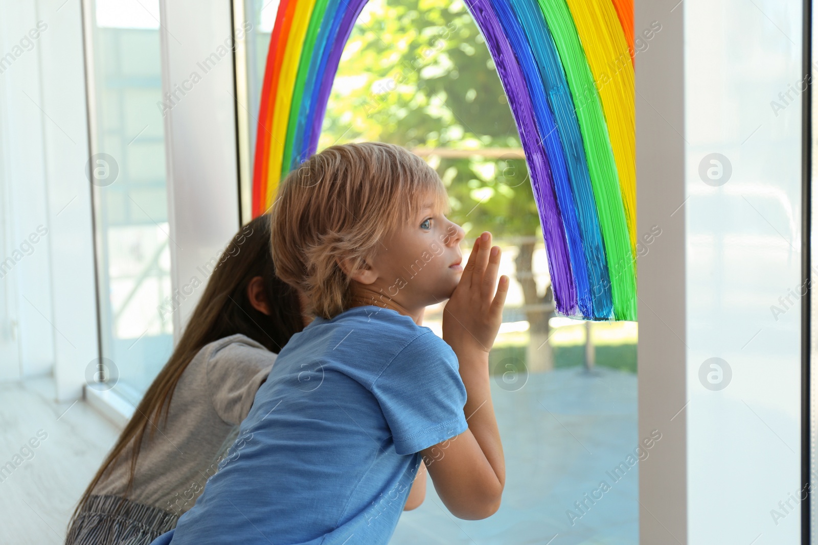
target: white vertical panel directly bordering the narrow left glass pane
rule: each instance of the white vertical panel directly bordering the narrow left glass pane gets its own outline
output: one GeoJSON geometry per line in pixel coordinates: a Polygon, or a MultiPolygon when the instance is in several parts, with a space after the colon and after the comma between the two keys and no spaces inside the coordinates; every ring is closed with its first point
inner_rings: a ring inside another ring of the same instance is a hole
{"type": "Polygon", "coordinates": [[[54,377],[57,398],[70,400],[82,396],[86,369],[99,348],[82,14],[79,0],[62,2],[39,0],[38,6],[53,13],[52,34],[43,35],[41,51],[43,103],[61,112],[62,130],[76,135],[74,145],[56,124],[45,125],[54,325],[60,330],[54,377]]]}

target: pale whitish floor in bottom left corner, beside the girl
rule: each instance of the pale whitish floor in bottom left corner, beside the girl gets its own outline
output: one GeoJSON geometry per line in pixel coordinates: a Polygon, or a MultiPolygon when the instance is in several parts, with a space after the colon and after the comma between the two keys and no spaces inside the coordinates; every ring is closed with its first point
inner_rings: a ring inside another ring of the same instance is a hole
{"type": "Polygon", "coordinates": [[[54,403],[53,391],[49,378],[0,384],[4,545],[63,543],[77,500],[119,436],[88,404],[54,403]]]}

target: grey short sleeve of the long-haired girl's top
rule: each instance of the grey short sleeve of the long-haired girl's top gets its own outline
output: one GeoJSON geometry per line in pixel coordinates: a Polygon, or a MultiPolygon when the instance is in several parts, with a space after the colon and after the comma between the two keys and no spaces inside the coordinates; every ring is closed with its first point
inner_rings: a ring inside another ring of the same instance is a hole
{"type": "Polygon", "coordinates": [[[218,417],[228,424],[240,424],[275,361],[275,352],[241,341],[231,342],[210,355],[207,385],[218,417]]]}

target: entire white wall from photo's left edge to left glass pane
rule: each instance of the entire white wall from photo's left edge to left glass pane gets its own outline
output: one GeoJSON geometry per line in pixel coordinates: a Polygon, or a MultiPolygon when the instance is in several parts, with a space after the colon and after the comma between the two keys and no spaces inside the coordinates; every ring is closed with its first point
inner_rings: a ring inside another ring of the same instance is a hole
{"type": "Polygon", "coordinates": [[[0,54],[15,56],[0,74],[11,242],[19,245],[38,226],[47,230],[9,278],[19,312],[21,372],[53,371],[56,397],[76,399],[86,367],[98,356],[79,0],[0,0],[0,25],[0,54]],[[28,34],[31,29],[39,32],[28,34]],[[20,40],[24,47],[16,50],[20,40]]]}

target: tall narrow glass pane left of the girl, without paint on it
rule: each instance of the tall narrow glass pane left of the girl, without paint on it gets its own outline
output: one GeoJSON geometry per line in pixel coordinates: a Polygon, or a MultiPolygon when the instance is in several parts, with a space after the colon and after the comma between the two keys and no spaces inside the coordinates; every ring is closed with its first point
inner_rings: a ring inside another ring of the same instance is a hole
{"type": "Polygon", "coordinates": [[[92,13],[102,357],[108,384],[137,403],[173,346],[159,0],[95,0],[92,13]]]}

